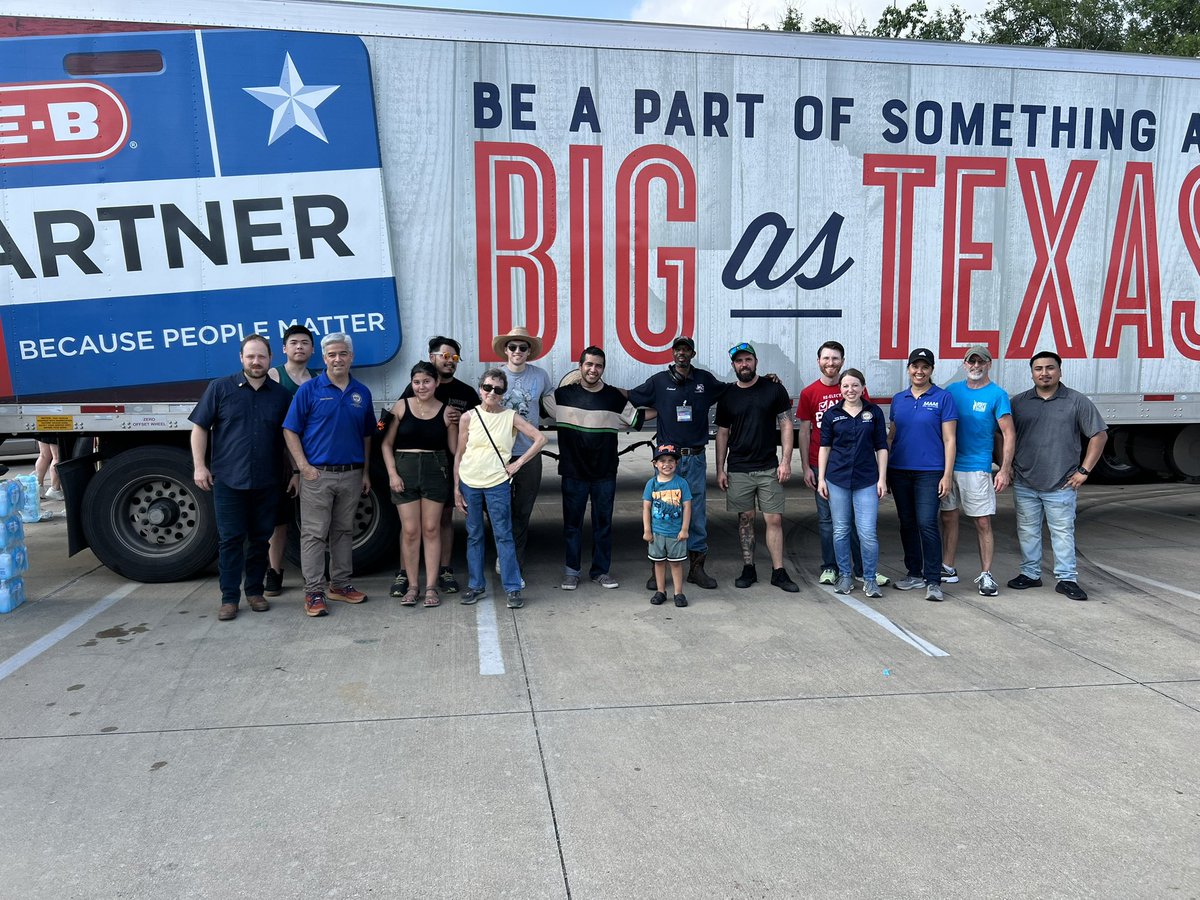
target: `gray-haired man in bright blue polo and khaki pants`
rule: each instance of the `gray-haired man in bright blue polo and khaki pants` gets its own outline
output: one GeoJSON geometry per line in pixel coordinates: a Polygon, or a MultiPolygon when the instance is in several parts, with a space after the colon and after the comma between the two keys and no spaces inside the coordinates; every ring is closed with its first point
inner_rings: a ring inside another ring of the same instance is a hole
{"type": "Polygon", "coordinates": [[[350,584],[354,512],[371,490],[367,458],[376,432],[371,391],[350,376],[354,342],[337,332],[320,340],[325,371],[296,390],[283,421],[283,439],[300,475],[300,570],[305,612],[325,616],[325,596],[361,604],[350,584]],[[325,590],[325,550],[329,589],[325,590]]]}

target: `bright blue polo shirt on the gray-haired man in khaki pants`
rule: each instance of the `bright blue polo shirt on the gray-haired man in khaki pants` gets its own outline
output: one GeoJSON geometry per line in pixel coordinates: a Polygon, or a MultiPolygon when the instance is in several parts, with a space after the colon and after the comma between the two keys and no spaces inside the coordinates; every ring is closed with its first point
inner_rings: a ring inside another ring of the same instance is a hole
{"type": "Polygon", "coordinates": [[[376,432],[371,391],[355,378],[342,390],[322,372],[296,390],[283,427],[300,436],[310,466],[365,463],[362,438],[376,432]]]}

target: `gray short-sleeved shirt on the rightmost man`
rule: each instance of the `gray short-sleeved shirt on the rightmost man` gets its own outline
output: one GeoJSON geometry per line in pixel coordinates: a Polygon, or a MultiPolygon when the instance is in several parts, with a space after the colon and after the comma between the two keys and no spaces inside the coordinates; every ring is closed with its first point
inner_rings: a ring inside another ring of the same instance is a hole
{"type": "Polygon", "coordinates": [[[1015,481],[1034,491],[1057,491],[1079,466],[1084,438],[1106,431],[1096,404],[1064,384],[1049,400],[1036,388],[1013,396],[1016,426],[1015,481]]]}

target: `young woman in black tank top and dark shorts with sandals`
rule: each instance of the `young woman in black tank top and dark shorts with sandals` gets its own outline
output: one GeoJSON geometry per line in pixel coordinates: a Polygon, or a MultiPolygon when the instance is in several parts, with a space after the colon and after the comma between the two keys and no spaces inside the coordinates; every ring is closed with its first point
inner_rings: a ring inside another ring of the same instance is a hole
{"type": "Polygon", "coordinates": [[[396,572],[391,595],[401,598],[402,606],[416,605],[424,538],[425,606],[438,606],[442,509],[454,490],[450,460],[458,445],[458,426],[450,421],[450,408],[433,396],[438,372],[432,364],[413,366],[412,385],[413,397],[396,401],[383,436],[383,462],[401,523],[402,568],[396,572]]]}

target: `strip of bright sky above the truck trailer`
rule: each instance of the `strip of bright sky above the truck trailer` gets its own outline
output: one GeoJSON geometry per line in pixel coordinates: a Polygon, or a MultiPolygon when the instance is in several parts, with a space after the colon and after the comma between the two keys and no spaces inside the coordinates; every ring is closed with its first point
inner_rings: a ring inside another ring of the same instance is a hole
{"type": "MultiPolygon", "coordinates": [[[[901,6],[908,0],[898,0],[901,6]]],[[[580,16],[595,19],[634,19],[692,25],[744,28],[748,22],[778,25],[787,0],[402,0],[407,6],[434,6],[490,12],[524,12],[540,16],[580,16]]],[[[926,0],[930,8],[944,8],[949,0],[926,0]]],[[[978,16],[986,0],[956,0],[970,14],[978,16]]],[[[834,22],[866,19],[874,25],[890,0],[796,0],[805,22],[822,16],[834,22]]],[[[972,31],[968,23],[967,31],[972,31]]]]}

